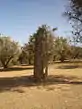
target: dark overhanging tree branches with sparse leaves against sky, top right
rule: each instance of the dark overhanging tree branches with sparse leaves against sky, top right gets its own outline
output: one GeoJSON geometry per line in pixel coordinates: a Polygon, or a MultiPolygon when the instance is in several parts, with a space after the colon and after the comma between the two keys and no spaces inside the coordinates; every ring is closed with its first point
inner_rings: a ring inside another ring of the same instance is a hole
{"type": "Polygon", "coordinates": [[[78,42],[82,42],[82,0],[69,0],[69,6],[65,12],[73,27],[73,35],[78,42]]]}

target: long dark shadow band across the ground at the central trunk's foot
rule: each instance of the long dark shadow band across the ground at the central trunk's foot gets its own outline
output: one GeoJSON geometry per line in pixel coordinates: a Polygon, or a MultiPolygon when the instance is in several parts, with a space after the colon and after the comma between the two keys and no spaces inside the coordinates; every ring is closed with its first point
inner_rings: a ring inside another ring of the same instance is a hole
{"type": "Polygon", "coordinates": [[[24,93],[22,89],[15,89],[19,87],[33,87],[33,86],[48,86],[57,84],[72,84],[82,85],[82,81],[78,81],[79,78],[74,76],[48,76],[47,80],[43,83],[36,83],[33,76],[21,76],[21,77],[10,77],[0,78],[0,92],[4,91],[17,91],[24,93]],[[13,90],[12,90],[13,89],[13,90]]]}

